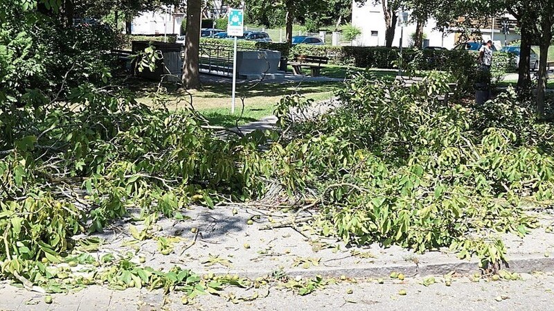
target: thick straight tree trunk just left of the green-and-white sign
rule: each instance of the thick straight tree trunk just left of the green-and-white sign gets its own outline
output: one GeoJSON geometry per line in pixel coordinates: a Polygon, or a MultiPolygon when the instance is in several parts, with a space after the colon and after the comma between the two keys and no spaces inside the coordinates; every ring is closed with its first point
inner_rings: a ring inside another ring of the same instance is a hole
{"type": "Polygon", "coordinates": [[[183,62],[183,85],[197,89],[200,85],[198,57],[200,48],[200,17],[202,0],[188,0],[186,8],[185,59],[183,62]]]}

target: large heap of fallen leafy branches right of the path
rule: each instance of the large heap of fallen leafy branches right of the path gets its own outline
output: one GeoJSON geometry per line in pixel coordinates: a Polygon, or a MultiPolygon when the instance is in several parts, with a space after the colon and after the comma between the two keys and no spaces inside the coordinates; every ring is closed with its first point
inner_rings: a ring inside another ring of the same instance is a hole
{"type": "Polygon", "coordinates": [[[293,124],[286,150],[301,163],[296,184],[319,189],[321,234],[417,251],[451,247],[497,265],[506,249],[496,234],[524,236],[535,226],[521,202],[553,198],[545,125],[525,107],[499,118],[517,107],[513,94],[475,110],[443,105],[437,96],[448,79],[432,73],[406,88],[359,74],[339,93],[340,108],[293,124]]]}

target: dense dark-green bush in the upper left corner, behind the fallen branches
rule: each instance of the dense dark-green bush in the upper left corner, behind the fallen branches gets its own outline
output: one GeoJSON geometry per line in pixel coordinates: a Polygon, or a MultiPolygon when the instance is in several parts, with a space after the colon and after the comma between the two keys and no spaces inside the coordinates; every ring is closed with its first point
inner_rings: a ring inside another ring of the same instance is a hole
{"type": "Polygon", "coordinates": [[[53,94],[64,95],[57,93],[62,85],[101,84],[109,73],[111,57],[105,52],[117,43],[110,28],[63,26],[29,6],[10,6],[5,14],[0,21],[0,109],[44,105],[53,94]]]}

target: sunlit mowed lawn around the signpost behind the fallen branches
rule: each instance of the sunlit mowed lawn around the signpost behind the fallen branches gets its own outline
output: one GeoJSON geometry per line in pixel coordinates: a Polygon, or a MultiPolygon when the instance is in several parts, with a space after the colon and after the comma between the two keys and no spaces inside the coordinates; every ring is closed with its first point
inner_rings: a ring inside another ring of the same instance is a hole
{"type": "MultiPolygon", "coordinates": [[[[190,91],[190,95],[186,94],[186,91],[168,87],[168,107],[190,107],[192,96],[193,107],[202,113],[211,125],[233,127],[237,123],[242,125],[271,116],[279,100],[287,95],[300,94],[315,101],[327,100],[342,86],[343,82],[264,82],[258,85],[240,83],[236,91],[235,114],[231,114],[231,83],[203,85],[202,89],[190,91]]],[[[153,84],[139,88],[139,102],[152,104],[150,97],[140,96],[140,92],[148,91],[152,87],[153,84]]]]}

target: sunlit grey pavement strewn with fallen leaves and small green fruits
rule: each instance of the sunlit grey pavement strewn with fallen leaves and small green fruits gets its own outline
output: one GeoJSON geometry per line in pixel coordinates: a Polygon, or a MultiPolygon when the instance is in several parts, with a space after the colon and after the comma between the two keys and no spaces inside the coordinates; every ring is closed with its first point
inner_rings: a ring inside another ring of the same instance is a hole
{"type": "MultiPolygon", "coordinates": [[[[155,225],[152,232],[154,236],[179,237],[179,242],[175,244],[175,249],[171,254],[164,256],[158,250],[157,242],[154,239],[144,240],[138,244],[132,245],[131,226],[141,230],[141,224],[131,224],[130,222],[121,222],[112,226],[102,234],[96,234],[105,240],[99,251],[92,253],[96,258],[104,254],[125,254],[126,252],[135,253],[135,246],[140,248],[133,259],[138,263],[139,256],[147,258],[145,266],[157,269],[170,269],[175,265],[186,267],[197,274],[238,274],[241,277],[256,278],[266,276],[276,271],[283,271],[289,276],[314,277],[318,274],[324,277],[348,276],[359,280],[359,284],[342,284],[330,286],[329,295],[345,296],[347,287],[358,288],[355,292],[359,293],[357,300],[364,299],[365,294],[362,291],[373,293],[375,290],[382,292],[381,296],[375,296],[375,301],[381,301],[386,305],[382,310],[397,310],[394,304],[387,296],[395,296],[400,288],[409,288],[410,292],[425,292],[427,287],[420,285],[423,276],[434,275],[440,279],[440,276],[449,272],[458,274],[456,284],[460,290],[466,292],[476,292],[479,294],[483,287],[492,286],[492,291],[496,285],[487,285],[481,282],[474,285],[468,281],[464,275],[473,272],[479,272],[479,265],[476,258],[474,260],[459,260],[456,254],[451,254],[447,249],[440,251],[429,251],[425,254],[416,254],[413,251],[402,249],[400,247],[380,247],[377,243],[367,247],[355,247],[345,245],[343,242],[334,238],[321,238],[312,233],[313,229],[309,226],[298,224],[295,227],[283,227],[278,229],[264,229],[265,226],[274,222],[282,222],[291,219],[294,213],[284,213],[272,208],[253,208],[251,206],[217,206],[214,209],[197,206],[182,211],[185,219],[161,220],[155,225]],[[253,220],[253,224],[248,224],[253,220]],[[193,228],[197,231],[192,230],[193,228]],[[159,230],[159,231],[157,231],[159,230]],[[194,243],[193,243],[194,241],[194,243]],[[220,258],[229,260],[229,263],[215,265],[203,264],[209,258],[220,258]],[[406,281],[397,281],[388,278],[391,272],[402,272],[406,275],[406,281]],[[384,277],[386,286],[379,287],[375,281],[368,278],[384,277]],[[465,280],[465,281],[464,281],[465,280]],[[460,281],[460,282],[458,282],[460,281]],[[388,290],[384,290],[388,289],[388,290]],[[380,297],[380,298],[379,298],[380,297]],[[385,297],[385,298],[384,298],[385,297]]],[[[310,217],[310,212],[305,212],[298,217],[310,217]]],[[[551,224],[554,216],[544,213],[540,216],[542,224],[551,224]]],[[[554,234],[546,233],[544,227],[534,229],[528,236],[521,239],[517,236],[507,234],[503,236],[503,241],[508,249],[508,260],[510,272],[532,273],[532,272],[553,272],[554,258],[546,257],[550,253],[554,255],[554,234]]],[[[554,256],[553,256],[554,257],[554,256]]],[[[80,267],[73,268],[78,271],[80,267]]],[[[534,280],[532,276],[525,276],[524,279],[534,280]]],[[[554,278],[549,278],[549,282],[554,285],[554,278]]],[[[535,280],[536,281],[536,280],[535,280]]],[[[534,282],[534,281],[533,281],[534,282]]],[[[512,287],[510,295],[519,294],[517,281],[509,283],[512,287]]],[[[499,285],[506,285],[506,282],[498,282],[499,285]]],[[[502,286],[503,286],[502,285],[502,286]]],[[[444,285],[437,285],[442,286],[444,285]]],[[[549,285],[550,286],[550,285],[549,285]]],[[[552,287],[548,287],[552,288],[552,287]]],[[[242,291],[235,287],[227,291],[242,291]]],[[[238,309],[232,308],[232,303],[224,303],[223,298],[202,296],[195,300],[195,308],[183,306],[179,303],[179,292],[164,296],[161,291],[150,292],[148,290],[125,290],[114,291],[106,287],[94,285],[87,287],[80,292],[69,294],[53,295],[55,303],[46,305],[42,294],[28,292],[8,285],[0,284],[0,294],[4,299],[0,300],[0,310],[254,310],[265,305],[267,310],[305,310],[310,303],[315,303],[317,299],[312,295],[307,298],[296,296],[289,292],[276,290],[269,286],[271,295],[266,298],[256,300],[253,303],[241,304],[238,309]],[[169,305],[163,307],[170,299],[169,305]],[[277,300],[276,300],[277,299],[277,300]],[[283,305],[283,300],[289,301],[290,307],[283,305]],[[264,302],[265,301],[265,302],[264,302]],[[310,302],[311,301],[311,302],[310,302]],[[282,308],[277,308],[281,303],[282,308]],[[226,308],[224,308],[226,306],[226,308]],[[243,306],[244,309],[242,308],[243,306]],[[292,308],[292,306],[295,306],[292,308]],[[301,308],[301,309],[298,309],[301,308]]],[[[457,291],[449,290],[456,293],[457,291]]],[[[316,295],[319,295],[316,291],[316,295]]],[[[323,291],[325,292],[325,291],[323,291]]],[[[432,292],[432,291],[431,291],[432,292]]],[[[240,292],[237,292],[238,295],[240,292]]],[[[243,296],[244,292],[242,292],[243,296]]],[[[251,292],[250,292],[251,294],[251,292]]],[[[481,294],[483,294],[481,292],[481,294]]],[[[544,294],[544,293],[543,293],[544,294]]],[[[325,294],[323,294],[325,297],[325,294]]],[[[427,296],[425,294],[424,296],[427,296]]],[[[494,296],[490,294],[490,301],[494,305],[499,305],[493,301],[494,296]]],[[[266,295],[267,296],[267,295],[266,295]]],[[[431,295],[432,296],[432,295],[431,295]]],[[[552,293],[547,296],[554,298],[552,293]]],[[[330,296],[329,305],[334,305],[333,297],[330,296]]],[[[354,296],[352,296],[354,299],[354,296]]],[[[399,298],[403,299],[403,298],[399,298]]],[[[427,298],[429,299],[429,297],[427,298]]],[[[514,301],[511,301],[512,303],[514,301]]],[[[357,305],[359,306],[359,305],[357,305]]],[[[548,310],[545,305],[541,308],[532,308],[530,310],[548,310]]],[[[323,310],[336,310],[325,309],[323,310]]],[[[352,309],[359,310],[352,305],[352,309]]],[[[405,310],[402,308],[402,310],[405,310]]],[[[418,309],[407,309],[418,310],[418,309]]],[[[465,310],[465,309],[452,309],[465,310]]],[[[476,309],[478,310],[478,309],[476,309]]]]}

